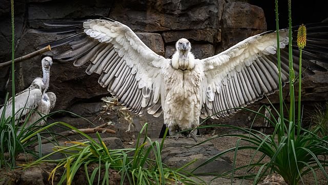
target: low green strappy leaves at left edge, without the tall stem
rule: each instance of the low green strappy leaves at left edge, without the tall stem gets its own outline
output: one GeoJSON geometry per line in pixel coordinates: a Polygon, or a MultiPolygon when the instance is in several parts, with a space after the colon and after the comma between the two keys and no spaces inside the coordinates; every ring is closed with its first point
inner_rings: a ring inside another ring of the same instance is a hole
{"type": "MultiPolygon", "coordinates": [[[[58,135],[51,132],[49,128],[58,126],[60,123],[56,122],[43,126],[38,126],[38,123],[57,112],[43,115],[29,126],[26,126],[26,123],[36,110],[30,110],[25,122],[21,126],[17,126],[15,123],[12,124],[11,117],[5,118],[5,112],[6,107],[4,107],[4,111],[0,116],[0,167],[15,168],[16,158],[20,154],[30,154],[35,158],[42,157],[42,140],[48,139],[46,136],[49,136],[49,134],[51,137],[58,135]],[[34,147],[30,147],[31,145],[36,145],[35,143],[38,145],[38,151],[35,151],[34,147]]],[[[67,125],[66,123],[62,124],[64,126],[67,125]]],[[[55,138],[52,138],[51,142],[58,143],[55,138]]]]}

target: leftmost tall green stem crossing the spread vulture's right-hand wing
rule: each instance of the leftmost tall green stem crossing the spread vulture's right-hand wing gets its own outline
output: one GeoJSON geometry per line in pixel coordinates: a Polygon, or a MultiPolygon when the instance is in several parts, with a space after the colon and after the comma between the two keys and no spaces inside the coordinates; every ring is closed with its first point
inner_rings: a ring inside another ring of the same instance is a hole
{"type": "Polygon", "coordinates": [[[278,59],[278,77],[279,77],[279,107],[280,107],[280,132],[278,132],[278,142],[281,136],[284,135],[284,122],[283,122],[283,104],[282,104],[282,83],[281,83],[281,61],[280,61],[280,41],[279,41],[279,16],[278,16],[278,0],[276,3],[276,33],[277,33],[277,59],[278,59]]]}

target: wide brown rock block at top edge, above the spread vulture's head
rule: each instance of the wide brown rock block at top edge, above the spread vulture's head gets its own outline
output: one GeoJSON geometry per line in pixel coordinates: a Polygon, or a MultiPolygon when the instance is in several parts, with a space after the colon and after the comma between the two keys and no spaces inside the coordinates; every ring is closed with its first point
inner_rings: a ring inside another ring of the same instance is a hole
{"type": "Polygon", "coordinates": [[[111,17],[136,31],[219,28],[223,1],[119,1],[111,17]],[[129,13],[122,13],[129,12],[129,13]]]}

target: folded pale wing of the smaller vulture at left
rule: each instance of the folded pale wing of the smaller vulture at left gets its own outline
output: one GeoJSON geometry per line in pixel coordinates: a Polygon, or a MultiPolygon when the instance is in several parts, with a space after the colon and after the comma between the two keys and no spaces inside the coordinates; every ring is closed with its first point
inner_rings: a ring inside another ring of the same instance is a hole
{"type": "MultiPolygon", "coordinates": [[[[37,108],[42,99],[42,92],[38,88],[29,87],[15,95],[15,124],[23,123],[31,109],[37,108]]],[[[5,106],[0,109],[3,113],[5,106]]],[[[6,104],[5,118],[12,115],[12,98],[6,104]]]]}

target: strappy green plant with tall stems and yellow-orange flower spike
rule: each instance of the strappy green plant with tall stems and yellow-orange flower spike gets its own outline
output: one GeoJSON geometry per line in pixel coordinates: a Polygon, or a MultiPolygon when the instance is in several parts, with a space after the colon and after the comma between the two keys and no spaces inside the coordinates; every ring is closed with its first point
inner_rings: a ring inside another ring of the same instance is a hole
{"type": "MultiPolygon", "coordinates": [[[[282,85],[281,85],[281,66],[280,66],[280,51],[279,51],[279,21],[278,21],[278,1],[276,3],[276,33],[277,33],[277,56],[278,56],[278,74],[279,74],[279,110],[271,110],[267,106],[262,106],[261,109],[267,110],[270,117],[266,117],[260,112],[254,112],[253,110],[242,108],[253,112],[256,116],[263,117],[269,123],[271,123],[275,130],[271,135],[261,133],[259,131],[253,130],[252,128],[241,128],[231,125],[209,125],[219,126],[219,127],[230,127],[232,131],[240,131],[242,133],[248,133],[248,135],[242,134],[224,134],[220,136],[215,136],[213,138],[220,137],[237,137],[236,146],[225,150],[215,157],[207,160],[199,167],[207,164],[216,158],[227,154],[234,153],[233,167],[236,165],[236,156],[238,152],[252,151],[252,156],[249,164],[243,165],[242,167],[234,168],[233,170],[217,175],[239,177],[244,179],[254,179],[253,184],[257,184],[261,178],[265,175],[277,173],[280,174],[286,183],[298,184],[299,182],[304,184],[303,177],[306,174],[312,174],[314,178],[314,183],[318,184],[318,177],[316,172],[321,171],[323,176],[328,181],[327,170],[328,161],[324,157],[328,155],[328,136],[319,136],[320,128],[316,127],[312,130],[302,128],[302,111],[300,106],[300,88],[301,88],[301,67],[299,71],[299,99],[298,108],[295,108],[295,95],[294,95],[294,83],[296,81],[295,72],[293,69],[293,57],[292,57],[292,19],[291,19],[291,0],[288,2],[289,8],[289,82],[290,82],[290,107],[288,109],[288,116],[284,116],[283,107],[285,106],[282,98],[282,85]],[[297,112],[298,111],[298,112],[297,112]],[[278,115],[275,117],[274,115],[278,115]],[[296,119],[297,118],[297,119],[296,119]],[[296,131],[296,132],[295,132],[296,131]],[[241,143],[248,144],[241,144],[241,143]],[[246,150],[246,151],[245,151],[246,150]],[[255,160],[255,156],[260,156],[255,160]],[[265,160],[269,158],[270,160],[265,160]],[[235,172],[242,170],[244,175],[235,176],[235,172]],[[252,173],[251,170],[256,171],[252,173]]],[[[300,61],[301,66],[302,59],[302,49],[306,45],[306,28],[304,25],[300,26],[298,30],[297,44],[300,50],[300,61]]],[[[272,105],[272,104],[271,104],[272,105]]],[[[273,107],[273,105],[272,105],[273,107]]],[[[211,139],[213,139],[211,138],[211,139]]],[[[201,143],[199,143],[201,144],[201,143]]],[[[198,167],[198,168],[199,168],[198,167]]]]}

